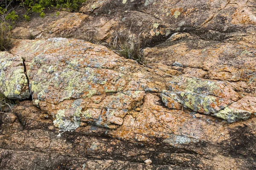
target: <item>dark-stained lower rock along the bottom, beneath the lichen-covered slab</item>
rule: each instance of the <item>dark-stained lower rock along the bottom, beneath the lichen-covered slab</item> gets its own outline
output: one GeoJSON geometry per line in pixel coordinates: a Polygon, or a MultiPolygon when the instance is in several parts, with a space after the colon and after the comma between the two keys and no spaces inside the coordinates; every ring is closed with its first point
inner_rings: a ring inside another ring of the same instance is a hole
{"type": "MultiPolygon", "coordinates": [[[[176,124],[169,127],[179,129],[182,135],[173,134],[165,139],[151,138],[148,133],[144,138],[148,137],[151,142],[142,142],[127,136],[128,141],[120,140],[123,135],[116,138],[116,133],[129,131],[137,133],[137,137],[142,136],[143,129],[132,128],[134,124],[123,125],[126,130],[80,126],[75,132],[65,132],[57,137],[59,132],[52,126],[51,117],[32,102],[21,102],[13,111],[0,113],[3,117],[0,119],[0,165],[4,170],[108,170],[120,167],[131,170],[219,170],[227,166],[247,170],[256,166],[255,118],[226,124],[204,115],[201,118],[186,117],[190,122],[177,119],[176,124]],[[195,142],[192,136],[199,133],[208,135],[205,140],[195,142]],[[151,159],[152,164],[144,164],[147,159],[151,159]]],[[[155,129],[156,124],[146,121],[137,123],[143,128],[155,129]]]]}

